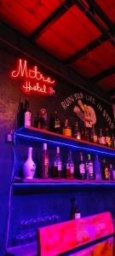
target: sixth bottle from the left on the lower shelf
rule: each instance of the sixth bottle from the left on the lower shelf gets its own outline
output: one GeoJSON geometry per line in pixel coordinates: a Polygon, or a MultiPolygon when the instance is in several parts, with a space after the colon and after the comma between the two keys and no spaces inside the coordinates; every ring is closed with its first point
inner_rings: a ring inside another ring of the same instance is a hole
{"type": "Polygon", "coordinates": [[[86,161],[86,172],[88,179],[95,179],[94,165],[90,158],[90,154],[88,154],[88,160],[86,161]]]}

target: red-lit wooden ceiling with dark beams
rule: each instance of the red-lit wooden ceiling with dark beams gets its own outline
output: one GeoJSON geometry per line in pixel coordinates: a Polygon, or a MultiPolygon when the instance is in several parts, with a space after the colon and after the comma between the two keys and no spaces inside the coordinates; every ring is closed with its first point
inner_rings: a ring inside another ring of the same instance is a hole
{"type": "Polygon", "coordinates": [[[115,0],[0,0],[0,20],[102,90],[115,90],[115,0]]]}

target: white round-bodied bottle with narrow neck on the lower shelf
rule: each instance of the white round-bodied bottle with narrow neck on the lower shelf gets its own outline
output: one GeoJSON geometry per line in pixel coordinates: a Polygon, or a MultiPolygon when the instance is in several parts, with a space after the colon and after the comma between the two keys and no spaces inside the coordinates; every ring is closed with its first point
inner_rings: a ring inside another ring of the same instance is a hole
{"type": "Polygon", "coordinates": [[[23,175],[25,178],[33,178],[36,172],[36,164],[32,160],[32,148],[28,148],[27,160],[23,165],[23,175]]]}

